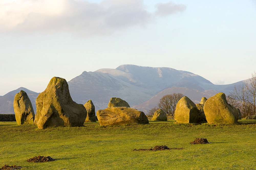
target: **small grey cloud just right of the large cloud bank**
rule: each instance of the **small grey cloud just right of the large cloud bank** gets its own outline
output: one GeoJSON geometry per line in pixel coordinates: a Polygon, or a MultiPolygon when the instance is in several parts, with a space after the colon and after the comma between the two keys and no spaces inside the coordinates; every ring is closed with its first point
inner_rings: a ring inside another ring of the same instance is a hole
{"type": "Polygon", "coordinates": [[[186,10],[186,5],[175,4],[172,1],[168,3],[158,3],[155,6],[157,8],[156,14],[161,16],[167,16],[186,10]]]}

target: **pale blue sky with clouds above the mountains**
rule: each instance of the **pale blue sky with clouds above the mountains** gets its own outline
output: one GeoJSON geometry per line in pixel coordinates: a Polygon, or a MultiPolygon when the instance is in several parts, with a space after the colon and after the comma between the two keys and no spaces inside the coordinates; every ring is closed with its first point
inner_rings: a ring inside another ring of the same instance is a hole
{"type": "Polygon", "coordinates": [[[0,0],[0,96],[122,64],[214,84],[256,71],[256,0],[0,0]]]}

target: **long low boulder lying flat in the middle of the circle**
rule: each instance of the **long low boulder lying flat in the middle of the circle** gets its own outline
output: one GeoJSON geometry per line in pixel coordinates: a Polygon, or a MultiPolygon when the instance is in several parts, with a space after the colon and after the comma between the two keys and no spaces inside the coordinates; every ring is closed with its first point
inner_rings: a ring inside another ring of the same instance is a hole
{"type": "Polygon", "coordinates": [[[130,107],[108,107],[97,111],[100,125],[122,125],[130,123],[148,124],[144,112],[130,107]]]}

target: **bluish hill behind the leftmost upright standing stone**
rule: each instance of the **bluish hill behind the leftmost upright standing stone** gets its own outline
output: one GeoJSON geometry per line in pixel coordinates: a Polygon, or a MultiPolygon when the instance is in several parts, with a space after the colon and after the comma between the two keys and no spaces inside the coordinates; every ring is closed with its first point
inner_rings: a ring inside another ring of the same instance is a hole
{"type": "Polygon", "coordinates": [[[13,90],[3,96],[0,96],[0,114],[14,114],[13,110],[13,100],[14,96],[20,92],[20,90],[23,90],[27,93],[31,104],[33,106],[33,109],[36,113],[36,98],[39,95],[39,93],[33,92],[27,88],[20,87],[16,90],[13,90]]]}

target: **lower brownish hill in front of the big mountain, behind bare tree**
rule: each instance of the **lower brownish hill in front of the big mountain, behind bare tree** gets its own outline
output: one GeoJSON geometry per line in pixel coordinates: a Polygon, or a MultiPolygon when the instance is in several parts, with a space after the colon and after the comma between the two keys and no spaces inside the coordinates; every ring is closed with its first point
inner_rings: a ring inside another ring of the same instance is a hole
{"type": "Polygon", "coordinates": [[[168,88],[168,89],[161,91],[160,93],[156,94],[151,99],[149,99],[148,101],[146,101],[142,104],[133,106],[133,108],[143,111],[146,114],[150,109],[152,109],[153,107],[155,107],[157,105],[159,100],[164,95],[173,94],[173,93],[182,93],[185,96],[187,96],[189,99],[191,99],[195,104],[197,104],[197,103],[200,103],[202,97],[209,98],[219,92],[217,90],[200,91],[200,90],[190,89],[190,88],[186,88],[186,87],[172,87],[172,88],[168,88]]]}

